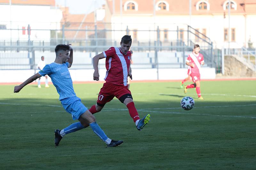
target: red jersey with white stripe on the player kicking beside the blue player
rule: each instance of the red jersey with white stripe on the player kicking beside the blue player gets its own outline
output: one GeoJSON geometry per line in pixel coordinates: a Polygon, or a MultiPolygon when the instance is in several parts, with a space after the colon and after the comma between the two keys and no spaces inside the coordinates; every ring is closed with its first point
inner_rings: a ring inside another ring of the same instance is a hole
{"type": "Polygon", "coordinates": [[[103,52],[106,58],[106,82],[127,86],[127,76],[131,62],[131,52],[124,54],[119,47],[110,47],[103,52]]]}

